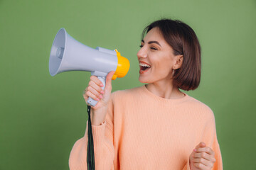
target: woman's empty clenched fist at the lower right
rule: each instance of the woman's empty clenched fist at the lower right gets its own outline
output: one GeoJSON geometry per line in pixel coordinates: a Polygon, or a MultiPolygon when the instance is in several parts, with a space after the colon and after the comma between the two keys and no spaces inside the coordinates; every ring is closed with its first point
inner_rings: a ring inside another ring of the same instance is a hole
{"type": "Polygon", "coordinates": [[[193,152],[189,157],[189,164],[191,166],[191,170],[212,169],[214,162],[216,162],[214,156],[215,153],[213,152],[213,149],[210,149],[210,147],[206,147],[206,144],[204,142],[200,142],[196,146],[196,149],[193,149],[193,152]]]}

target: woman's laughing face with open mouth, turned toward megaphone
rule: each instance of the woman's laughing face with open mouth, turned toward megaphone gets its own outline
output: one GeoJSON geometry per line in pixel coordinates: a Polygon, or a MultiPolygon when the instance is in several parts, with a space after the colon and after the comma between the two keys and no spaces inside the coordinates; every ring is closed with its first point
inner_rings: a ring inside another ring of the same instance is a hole
{"type": "Polygon", "coordinates": [[[149,30],[141,47],[137,53],[139,81],[147,84],[170,81],[177,56],[174,56],[174,50],[164,40],[159,28],[149,30]]]}

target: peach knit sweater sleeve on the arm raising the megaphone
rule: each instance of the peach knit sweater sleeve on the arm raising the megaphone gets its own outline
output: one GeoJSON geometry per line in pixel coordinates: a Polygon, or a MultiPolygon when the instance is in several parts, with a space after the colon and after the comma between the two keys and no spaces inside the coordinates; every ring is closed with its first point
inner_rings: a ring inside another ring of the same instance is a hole
{"type": "MultiPolygon", "coordinates": [[[[111,104],[112,102],[110,102],[111,104]]],[[[92,125],[92,136],[95,152],[95,169],[114,169],[113,121],[112,108],[109,108],[106,119],[101,125],[92,125]]],[[[88,125],[88,121],[86,123],[88,125]]],[[[87,128],[85,135],[75,142],[70,152],[70,170],[87,169],[87,128]]]]}

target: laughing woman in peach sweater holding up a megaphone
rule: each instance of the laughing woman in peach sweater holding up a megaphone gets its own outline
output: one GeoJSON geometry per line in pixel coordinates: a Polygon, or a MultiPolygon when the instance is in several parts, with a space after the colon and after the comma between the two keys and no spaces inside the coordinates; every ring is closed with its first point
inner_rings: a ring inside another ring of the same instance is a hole
{"type": "MultiPolygon", "coordinates": [[[[201,49],[181,21],[162,19],[142,33],[139,81],[146,84],[111,94],[90,77],[84,98],[92,107],[96,169],[223,169],[215,118],[188,96],[201,77],[201,49]],[[144,33],[146,36],[144,37],[144,33]]],[[[70,153],[70,169],[87,169],[87,128],[70,153]]]]}

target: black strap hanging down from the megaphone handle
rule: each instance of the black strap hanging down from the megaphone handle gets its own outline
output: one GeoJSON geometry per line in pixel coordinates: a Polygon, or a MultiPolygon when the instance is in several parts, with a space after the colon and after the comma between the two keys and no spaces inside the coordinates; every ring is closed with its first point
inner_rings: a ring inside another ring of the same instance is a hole
{"type": "Polygon", "coordinates": [[[87,169],[95,170],[94,147],[92,137],[92,123],[90,119],[90,106],[87,105],[88,113],[88,143],[87,143],[87,169]]]}

